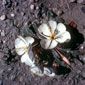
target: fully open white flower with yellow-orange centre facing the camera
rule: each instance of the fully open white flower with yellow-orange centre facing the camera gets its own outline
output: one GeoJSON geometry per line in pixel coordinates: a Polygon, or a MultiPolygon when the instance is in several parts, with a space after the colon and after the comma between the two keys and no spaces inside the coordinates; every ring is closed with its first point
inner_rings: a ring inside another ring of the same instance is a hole
{"type": "Polygon", "coordinates": [[[50,20],[43,23],[38,28],[38,35],[41,38],[41,46],[44,49],[53,49],[58,43],[64,43],[71,39],[71,35],[66,31],[63,23],[57,24],[56,21],[50,20]]]}

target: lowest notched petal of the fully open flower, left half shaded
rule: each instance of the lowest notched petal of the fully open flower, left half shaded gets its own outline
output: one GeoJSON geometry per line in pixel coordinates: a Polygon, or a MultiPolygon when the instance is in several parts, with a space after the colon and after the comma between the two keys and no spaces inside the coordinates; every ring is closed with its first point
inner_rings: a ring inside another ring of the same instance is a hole
{"type": "Polygon", "coordinates": [[[55,40],[52,40],[51,42],[51,40],[43,39],[41,40],[40,44],[44,49],[53,49],[57,46],[58,43],[55,40]]]}

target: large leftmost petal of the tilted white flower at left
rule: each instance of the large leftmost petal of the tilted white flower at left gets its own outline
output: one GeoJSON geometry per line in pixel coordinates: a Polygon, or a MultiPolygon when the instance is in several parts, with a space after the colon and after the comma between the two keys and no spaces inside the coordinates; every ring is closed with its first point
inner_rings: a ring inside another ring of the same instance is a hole
{"type": "Polygon", "coordinates": [[[26,51],[27,45],[22,39],[17,38],[15,40],[15,49],[18,55],[22,55],[26,51]]]}

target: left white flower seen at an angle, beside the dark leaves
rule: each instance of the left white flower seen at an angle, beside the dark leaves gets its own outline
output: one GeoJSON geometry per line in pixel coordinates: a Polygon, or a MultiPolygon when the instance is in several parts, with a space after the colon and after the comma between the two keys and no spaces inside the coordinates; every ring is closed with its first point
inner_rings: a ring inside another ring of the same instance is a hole
{"type": "Polygon", "coordinates": [[[30,45],[34,42],[32,37],[26,37],[25,39],[22,36],[18,36],[15,40],[15,50],[18,55],[22,55],[21,62],[34,67],[33,52],[30,45]]]}

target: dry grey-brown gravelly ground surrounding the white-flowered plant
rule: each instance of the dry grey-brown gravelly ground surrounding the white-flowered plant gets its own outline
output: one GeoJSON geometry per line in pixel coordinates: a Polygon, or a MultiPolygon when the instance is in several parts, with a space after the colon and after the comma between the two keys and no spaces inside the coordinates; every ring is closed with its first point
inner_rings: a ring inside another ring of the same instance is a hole
{"type": "Polygon", "coordinates": [[[85,85],[84,38],[85,0],[0,0],[0,85],[85,85]],[[75,30],[72,39],[77,37],[69,44],[72,70],[62,66],[53,78],[33,75],[14,48],[17,35],[30,23],[47,20],[49,13],[75,30]]]}

